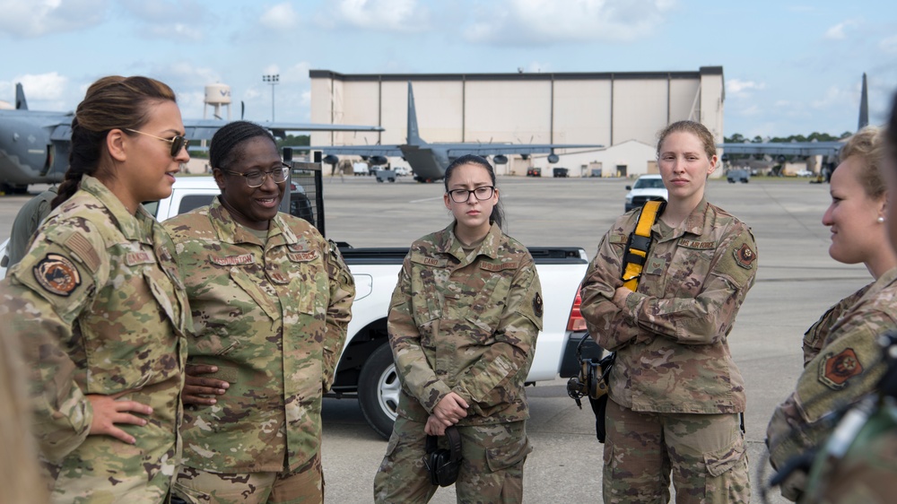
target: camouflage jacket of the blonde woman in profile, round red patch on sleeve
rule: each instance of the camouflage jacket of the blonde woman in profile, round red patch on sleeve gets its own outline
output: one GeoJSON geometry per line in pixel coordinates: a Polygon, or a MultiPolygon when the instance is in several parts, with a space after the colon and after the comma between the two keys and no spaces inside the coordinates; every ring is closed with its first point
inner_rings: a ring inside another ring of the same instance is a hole
{"type": "Polygon", "coordinates": [[[766,443],[773,467],[823,442],[834,427],[829,413],[874,391],[882,378],[887,366],[876,338],[897,330],[897,268],[864,289],[832,326],[795,391],[772,413],[766,443]]]}

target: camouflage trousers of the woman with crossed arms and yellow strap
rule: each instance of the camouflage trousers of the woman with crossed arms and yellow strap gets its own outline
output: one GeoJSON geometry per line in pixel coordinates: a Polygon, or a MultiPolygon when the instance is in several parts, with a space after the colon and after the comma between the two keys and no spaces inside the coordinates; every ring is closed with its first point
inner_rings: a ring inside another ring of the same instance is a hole
{"type": "Polygon", "coordinates": [[[607,401],[605,503],[751,501],[737,413],[640,413],[607,401]]]}

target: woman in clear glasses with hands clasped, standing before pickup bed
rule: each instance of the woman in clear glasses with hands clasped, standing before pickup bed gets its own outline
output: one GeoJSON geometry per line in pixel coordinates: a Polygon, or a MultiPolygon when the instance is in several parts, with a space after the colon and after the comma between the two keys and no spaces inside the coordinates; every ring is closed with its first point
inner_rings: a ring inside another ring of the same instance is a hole
{"type": "Polygon", "coordinates": [[[542,295],[527,248],[501,232],[489,161],[446,169],[455,217],[405,256],[389,310],[389,344],[402,382],[398,418],[374,479],[374,500],[426,502],[428,434],[455,425],[463,462],[458,502],[520,502],[531,451],[523,390],[542,328],[542,295]]]}

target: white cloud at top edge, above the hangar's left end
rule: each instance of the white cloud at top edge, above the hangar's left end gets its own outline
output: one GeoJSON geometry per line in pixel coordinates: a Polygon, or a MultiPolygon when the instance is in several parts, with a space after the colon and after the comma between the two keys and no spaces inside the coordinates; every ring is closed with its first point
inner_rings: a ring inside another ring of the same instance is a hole
{"type": "Polygon", "coordinates": [[[431,29],[430,11],[417,0],[339,0],[318,16],[323,24],[364,30],[415,32],[431,29]]]}

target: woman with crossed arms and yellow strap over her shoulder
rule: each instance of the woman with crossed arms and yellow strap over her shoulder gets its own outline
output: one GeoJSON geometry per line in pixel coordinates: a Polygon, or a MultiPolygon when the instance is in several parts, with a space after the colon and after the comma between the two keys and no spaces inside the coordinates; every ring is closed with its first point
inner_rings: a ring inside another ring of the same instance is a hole
{"type": "Polygon", "coordinates": [[[716,169],[700,123],[667,126],[658,168],[669,202],[651,228],[637,291],[623,286],[640,210],[620,217],[582,285],[582,316],[616,352],[607,402],[605,502],[749,502],[740,413],[745,381],[727,335],[753,285],[756,245],[744,222],[704,199],[716,169]]]}

